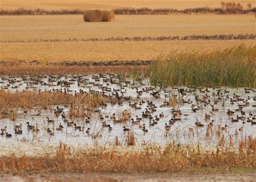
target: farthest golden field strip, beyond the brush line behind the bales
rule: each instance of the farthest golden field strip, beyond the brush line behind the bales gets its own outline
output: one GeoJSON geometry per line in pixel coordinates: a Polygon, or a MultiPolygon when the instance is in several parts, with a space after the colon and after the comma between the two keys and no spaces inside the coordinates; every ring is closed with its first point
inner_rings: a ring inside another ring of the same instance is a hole
{"type": "MultiPolygon", "coordinates": [[[[92,8],[173,8],[173,9],[186,9],[198,8],[208,6],[210,8],[219,8],[222,0],[1,0],[0,8],[3,9],[35,9],[41,8],[45,10],[56,9],[92,9],[92,8]]],[[[254,1],[232,1],[240,3],[246,7],[246,4],[254,1]]]]}

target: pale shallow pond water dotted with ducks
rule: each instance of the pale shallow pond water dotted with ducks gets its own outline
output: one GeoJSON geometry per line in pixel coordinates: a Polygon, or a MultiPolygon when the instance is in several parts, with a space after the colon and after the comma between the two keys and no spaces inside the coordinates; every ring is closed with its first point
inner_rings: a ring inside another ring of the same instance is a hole
{"type": "Polygon", "coordinates": [[[5,152],[35,155],[51,151],[60,142],[70,146],[109,146],[114,144],[116,137],[126,145],[127,131],[123,131],[124,126],[134,133],[136,146],[150,143],[165,145],[175,141],[194,145],[200,142],[214,147],[219,143],[219,136],[223,135],[225,146],[229,146],[230,136],[234,145],[245,136],[256,136],[255,90],[250,88],[153,87],[149,80],[133,80],[118,75],[45,75],[2,76],[0,89],[12,93],[24,90],[51,90],[67,94],[104,92],[104,95],[118,98],[114,104],[105,103],[105,106],[95,108],[90,118],[70,118],[69,107],[61,105],[52,106],[51,110],[42,107],[18,108],[16,121],[10,118],[0,120],[0,128],[6,127],[0,136],[0,155],[5,152]],[[169,102],[171,97],[172,102],[169,102]],[[58,117],[54,109],[59,111],[58,117]],[[228,109],[234,113],[227,114],[228,109]],[[38,110],[42,110],[40,115],[37,115],[38,110]],[[118,122],[118,116],[123,115],[125,110],[130,114],[130,120],[118,122]],[[63,112],[66,121],[62,117],[63,112]],[[54,122],[48,122],[47,117],[54,122]],[[29,130],[26,122],[37,126],[39,131],[29,130]],[[68,124],[70,122],[72,124],[68,124]],[[103,127],[103,122],[112,129],[103,127]],[[83,131],[75,129],[75,123],[83,131]],[[14,127],[20,124],[23,132],[18,135],[14,127]],[[210,137],[206,137],[208,124],[211,124],[210,137]],[[59,125],[63,125],[62,131],[56,130],[59,125]],[[89,133],[87,128],[91,129],[89,133]],[[5,132],[12,136],[5,137],[5,132]],[[97,137],[92,137],[95,134],[97,137]]]}

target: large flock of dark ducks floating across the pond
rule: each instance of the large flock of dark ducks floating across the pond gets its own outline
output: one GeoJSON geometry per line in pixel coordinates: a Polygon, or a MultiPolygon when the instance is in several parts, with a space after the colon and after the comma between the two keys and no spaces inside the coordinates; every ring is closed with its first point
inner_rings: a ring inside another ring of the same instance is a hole
{"type": "MultiPolygon", "coordinates": [[[[244,88],[244,93],[239,96],[231,91],[221,87],[213,88],[196,88],[192,86],[181,87],[173,86],[171,89],[167,86],[154,88],[144,85],[138,81],[140,86],[136,86],[131,80],[120,77],[119,75],[59,75],[59,76],[20,76],[1,78],[0,86],[3,90],[33,90],[37,89],[38,92],[62,92],[66,94],[86,94],[95,93],[104,97],[111,97],[116,102],[118,107],[127,107],[120,113],[112,113],[107,115],[104,109],[111,106],[111,103],[102,103],[101,107],[95,110],[96,118],[86,117],[83,122],[91,123],[94,120],[99,120],[102,123],[102,128],[107,128],[112,131],[113,124],[123,126],[123,132],[130,131],[133,126],[138,127],[144,133],[150,131],[150,128],[158,125],[164,126],[166,133],[170,132],[172,126],[177,122],[186,122],[189,120],[190,115],[199,113],[206,109],[204,115],[204,123],[196,119],[194,127],[204,128],[206,125],[214,125],[215,122],[212,117],[220,113],[221,110],[226,110],[226,107],[233,108],[227,109],[226,115],[230,124],[250,123],[251,126],[256,124],[256,108],[255,90],[252,88],[244,88]],[[77,85],[77,86],[76,86],[77,85]],[[75,89],[74,89],[75,88],[75,89]],[[246,96],[245,96],[246,95],[246,96]],[[176,102],[174,104],[173,102],[176,102]],[[226,107],[224,108],[223,106],[226,107]],[[183,113],[182,108],[190,108],[191,111],[183,113]],[[169,108],[169,109],[164,109],[169,108]],[[251,111],[247,111],[250,108],[251,111]],[[136,114],[133,114],[134,112],[136,114]],[[156,114],[158,113],[158,114],[156,114]],[[124,119],[125,118],[125,119],[124,119]],[[125,122],[126,121],[126,122],[125,122]],[[127,123],[126,125],[124,123],[127,123]],[[111,126],[112,125],[112,126],[111,126]]],[[[46,132],[49,135],[55,135],[55,131],[63,131],[66,127],[73,128],[81,132],[86,132],[90,135],[90,128],[78,125],[69,118],[67,111],[64,109],[69,106],[57,106],[54,108],[55,117],[61,117],[61,121],[57,127],[48,127],[46,132]],[[69,121],[71,120],[71,121],[69,121]]],[[[66,108],[68,110],[68,108],[66,108]]],[[[53,117],[52,117],[53,118],[53,117]]],[[[56,121],[46,117],[48,124],[55,124],[56,121]]],[[[22,135],[22,123],[14,126],[14,134],[22,135]]],[[[26,127],[29,131],[38,132],[40,129],[37,125],[31,125],[26,122],[26,127]]],[[[243,127],[238,130],[241,131],[243,127]]],[[[225,124],[221,130],[227,130],[228,125],[225,124]]],[[[12,137],[11,134],[6,132],[8,129],[4,127],[1,129],[1,135],[7,138],[12,137]]],[[[192,127],[189,130],[193,130],[192,127]]]]}

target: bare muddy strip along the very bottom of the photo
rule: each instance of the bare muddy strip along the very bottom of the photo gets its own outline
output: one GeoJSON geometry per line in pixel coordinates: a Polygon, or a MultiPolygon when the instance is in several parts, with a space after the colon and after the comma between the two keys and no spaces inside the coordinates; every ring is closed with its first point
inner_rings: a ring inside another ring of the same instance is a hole
{"type": "Polygon", "coordinates": [[[6,172],[3,181],[253,181],[256,173],[194,172],[194,173],[52,173],[6,172]]]}

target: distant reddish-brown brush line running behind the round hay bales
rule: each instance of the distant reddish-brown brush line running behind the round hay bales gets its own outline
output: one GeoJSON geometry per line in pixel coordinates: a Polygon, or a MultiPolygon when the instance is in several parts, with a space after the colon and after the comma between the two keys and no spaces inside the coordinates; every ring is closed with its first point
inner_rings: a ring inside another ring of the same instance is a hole
{"type": "MultiPolygon", "coordinates": [[[[256,7],[244,9],[242,6],[235,6],[235,8],[190,8],[190,9],[171,9],[171,8],[161,8],[161,9],[150,9],[150,8],[122,8],[114,9],[116,15],[169,15],[169,14],[196,14],[196,13],[214,13],[219,15],[225,14],[247,14],[255,13],[256,7]]],[[[0,15],[82,15],[84,10],[80,9],[60,9],[60,10],[44,10],[44,9],[0,9],[0,15]]]]}

